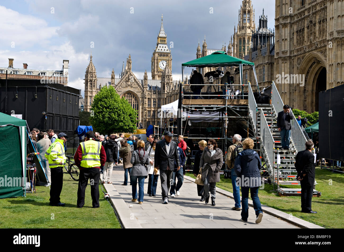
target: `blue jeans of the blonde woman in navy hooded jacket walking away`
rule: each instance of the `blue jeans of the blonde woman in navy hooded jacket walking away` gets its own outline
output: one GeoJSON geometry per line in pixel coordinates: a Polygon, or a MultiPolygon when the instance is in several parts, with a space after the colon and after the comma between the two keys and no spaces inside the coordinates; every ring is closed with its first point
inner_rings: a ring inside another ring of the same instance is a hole
{"type": "Polygon", "coordinates": [[[261,210],[261,205],[258,197],[259,187],[243,187],[241,186],[241,203],[243,204],[241,210],[241,219],[247,220],[248,218],[248,190],[251,191],[251,199],[253,201],[253,209],[256,211],[256,216],[258,217],[259,213],[263,213],[261,210]]]}

